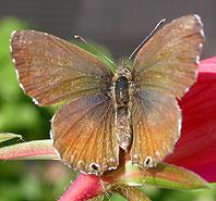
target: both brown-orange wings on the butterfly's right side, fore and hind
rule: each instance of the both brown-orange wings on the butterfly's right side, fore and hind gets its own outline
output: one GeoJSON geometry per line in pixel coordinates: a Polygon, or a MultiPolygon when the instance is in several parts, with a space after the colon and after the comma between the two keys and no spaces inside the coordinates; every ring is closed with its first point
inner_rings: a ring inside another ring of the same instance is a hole
{"type": "Polygon", "coordinates": [[[132,100],[133,164],[153,166],[173,151],[181,129],[176,98],[196,79],[203,40],[200,17],[187,15],[167,24],[137,53],[132,66],[137,88],[132,100]]]}

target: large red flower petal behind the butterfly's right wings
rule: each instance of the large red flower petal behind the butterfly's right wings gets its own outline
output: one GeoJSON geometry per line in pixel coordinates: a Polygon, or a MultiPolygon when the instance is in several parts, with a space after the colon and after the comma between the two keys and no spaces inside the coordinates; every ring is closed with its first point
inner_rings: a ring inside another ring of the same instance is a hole
{"type": "Polygon", "coordinates": [[[166,163],[216,181],[216,58],[200,63],[197,83],[180,101],[181,138],[166,163]]]}

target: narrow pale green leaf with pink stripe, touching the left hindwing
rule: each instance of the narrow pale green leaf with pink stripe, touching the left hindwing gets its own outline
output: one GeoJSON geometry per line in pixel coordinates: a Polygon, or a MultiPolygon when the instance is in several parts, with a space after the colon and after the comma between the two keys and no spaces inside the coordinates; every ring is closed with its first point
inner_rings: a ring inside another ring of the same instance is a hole
{"type": "Polygon", "coordinates": [[[35,140],[0,148],[0,160],[60,160],[52,140],[35,140]]]}

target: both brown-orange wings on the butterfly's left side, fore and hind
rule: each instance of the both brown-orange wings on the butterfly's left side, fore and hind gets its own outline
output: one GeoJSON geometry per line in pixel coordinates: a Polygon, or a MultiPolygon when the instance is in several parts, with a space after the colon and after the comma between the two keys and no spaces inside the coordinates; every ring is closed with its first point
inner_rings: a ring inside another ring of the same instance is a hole
{"type": "Polygon", "coordinates": [[[58,37],[17,30],[11,55],[24,91],[39,105],[71,100],[52,118],[53,146],[62,161],[85,173],[118,165],[109,67],[58,37]]]}

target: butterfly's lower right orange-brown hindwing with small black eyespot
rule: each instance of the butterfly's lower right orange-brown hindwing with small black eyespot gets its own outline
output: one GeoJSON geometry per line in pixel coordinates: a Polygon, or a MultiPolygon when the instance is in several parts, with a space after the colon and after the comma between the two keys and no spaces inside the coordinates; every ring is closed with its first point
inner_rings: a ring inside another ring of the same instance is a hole
{"type": "Polygon", "coordinates": [[[134,97],[131,115],[132,162],[141,167],[156,165],[172,152],[180,136],[181,114],[177,101],[163,92],[146,90],[134,97]]]}

